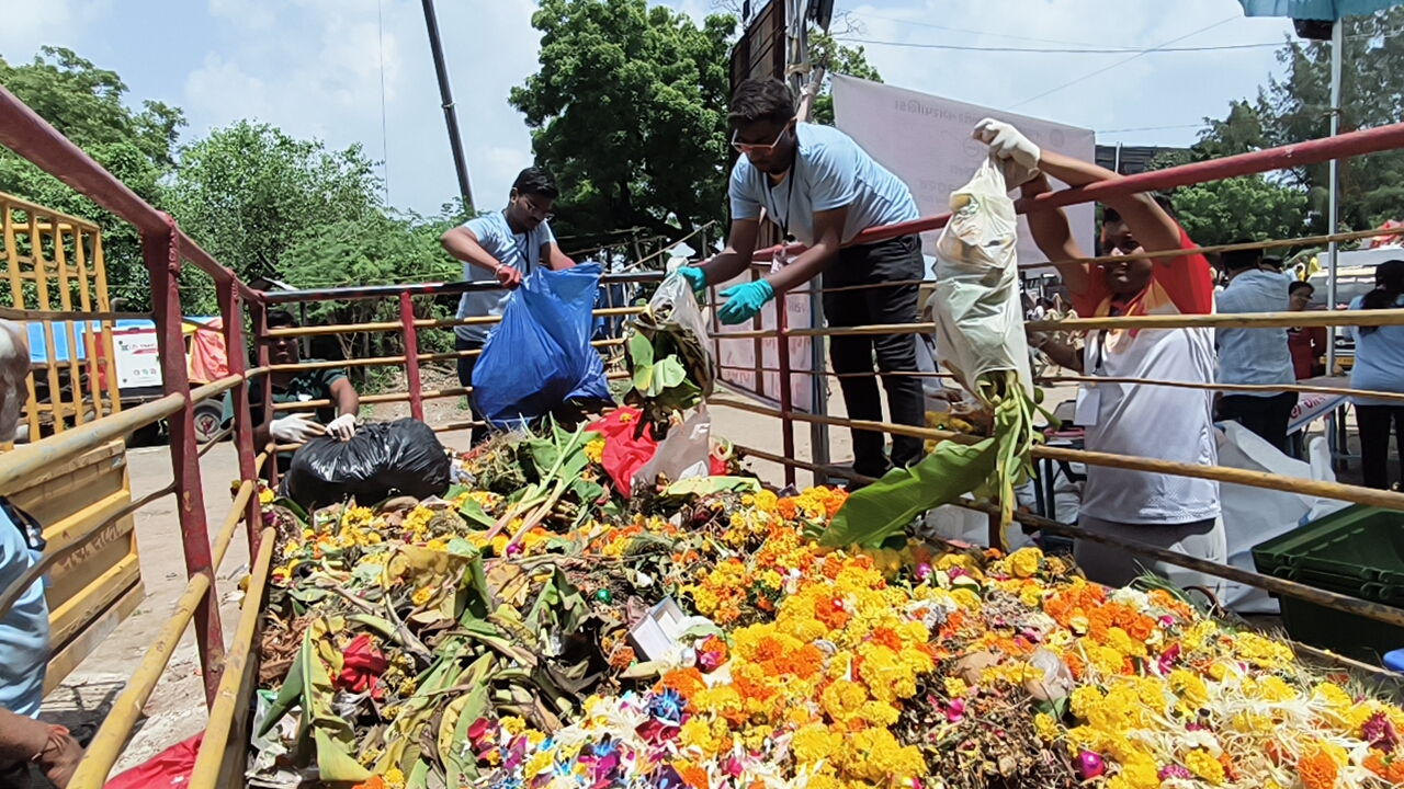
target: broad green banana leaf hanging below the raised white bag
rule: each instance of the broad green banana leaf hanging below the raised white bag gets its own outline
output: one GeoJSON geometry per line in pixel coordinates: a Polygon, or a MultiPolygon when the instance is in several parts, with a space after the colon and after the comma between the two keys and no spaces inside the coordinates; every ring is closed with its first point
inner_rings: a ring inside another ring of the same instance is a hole
{"type": "Polygon", "coordinates": [[[820,536],[827,546],[876,546],[900,533],[918,514],[970,493],[994,473],[998,445],[987,438],[973,446],[942,441],[910,469],[893,469],[855,491],[820,536]]]}

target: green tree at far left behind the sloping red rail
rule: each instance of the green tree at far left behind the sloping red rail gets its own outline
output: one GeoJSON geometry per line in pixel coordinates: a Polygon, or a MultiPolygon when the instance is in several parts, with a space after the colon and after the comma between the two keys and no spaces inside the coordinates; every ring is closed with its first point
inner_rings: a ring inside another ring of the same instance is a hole
{"type": "MultiPolygon", "coordinates": [[[[126,84],[115,72],[55,46],[18,66],[0,59],[0,84],[143,199],[163,204],[161,183],[185,125],[178,108],[159,101],[131,108],[124,102],[126,84]]],[[[102,229],[110,293],[122,298],[125,309],[150,309],[135,227],[6,149],[0,149],[0,191],[95,222],[102,229]]]]}

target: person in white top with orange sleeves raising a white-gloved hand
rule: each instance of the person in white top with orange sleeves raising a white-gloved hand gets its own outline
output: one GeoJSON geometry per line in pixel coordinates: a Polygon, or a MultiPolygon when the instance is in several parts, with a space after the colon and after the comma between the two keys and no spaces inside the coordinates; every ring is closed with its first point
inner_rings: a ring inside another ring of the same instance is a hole
{"type": "MultiPolygon", "coordinates": [[[[1042,152],[1018,129],[998,121],[976,126],[976,139],[1029,170],[1040,170],[1022,185],[1025,198],[1049,191],[1054,177],[1071,187],[1119,178],[1087,161],[1042,152]]],[[[1112,254],[1182,250],[1193,243],[1146,194],[1108,198],[1102,244],[1112,254]]],[[[1213,313],[1213,275],[1200,254],[1109,264],[1094,272],[1088,256],[1073,240],[1061,209],[1033,209],[1029,229],[1039,250],[1059,268],[1078,314],[1206,314],[1213,313]]],[[[1039,340],[1059,365],[1088,376],[1213,382],[1212,329],[1136,329],[1094,331],[1085,348],[1039,340]]],[[[1207,390],[1171,386],[1095,383],[1078,392],[1075,423],[1087,428],[1092,452],[1109,452],[1179,463],[1217,462],[1213,396],[1207,390]]],[[[1078,525],[1094,533],[1165,548],[1224,563],[1228,545],[1219,519],[1219,484],[1177,475],[1144,473],[1108,466],[1087,468],[1078,525]]],[[[1221,581],[1205,573],[1090,541],[1078,541],[1077,563],[1088,578],[1122,587],[1146,571],[1185,587],[1217,594],[1221,581]]]]}

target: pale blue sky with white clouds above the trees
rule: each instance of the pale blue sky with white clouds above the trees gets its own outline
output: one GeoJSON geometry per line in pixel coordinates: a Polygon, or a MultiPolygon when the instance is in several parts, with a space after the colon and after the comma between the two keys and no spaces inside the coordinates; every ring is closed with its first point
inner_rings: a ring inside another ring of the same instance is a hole
{"type": "MultiPolygon", "coordinates": [[[[757,0],[758,4],[760,0],[757,0]]],[[[656,4],[656,0],[650,0],[656,4]]],[[[699,20],[710,0],[664,3],[699,20]]],[[[535,0],[438,0],[477,208],[505,204],[531,164],[507,94],[536,70],[535,0]]],[[[1290,22],[1244,18],[1237,0],[838,1],[889,84],[1091,128],[1099,143],[1182,146],[1205,117],[1255,95],[1280,67],[1290,22]],[[1113,53],[951,51],[1130,49],[1113,53]],[[1154,46],[1269,46],[1153,52],[1154,46]],[[1070,84],[1074,83],[1074,84],[1070,84]],[[1068,87],[1064,87],[1068,86],[1068,87]]],[[[181,143],[241,118],[383,161],[388,202],[435,213],[456,191],[417,0],[0,0],[0,56],[67,46],[115,70],[128,100],[185,111],[181,143]]]]}

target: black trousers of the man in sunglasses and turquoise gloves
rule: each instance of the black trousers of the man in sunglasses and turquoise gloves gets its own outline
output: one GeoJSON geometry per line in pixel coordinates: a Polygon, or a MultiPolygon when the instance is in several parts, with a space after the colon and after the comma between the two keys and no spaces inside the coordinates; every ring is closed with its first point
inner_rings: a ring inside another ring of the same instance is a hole
{"type": "MultiPolygon", "coordinates": [[[[824,271],[824,288],[869,285],[899,281],[920,281],[925,261],[921,240],[900,236],[887,241],[840,250],[838,260],[824,271]]],[[[824,317],[830,327],[868,326],[883,323],[915,323],[918,285],[890,285],[824,293],[824,317]]],[[[876,337],[830,337],[828,354],[838,386],[844,392],[848,417],[882,421],[882,400],[878,379],[868,376],[844,378],[844,373],[872,373],[873,355],[883,373],[914,372],[917,369],[915,334],[882,334],[876,337]]],[[[894,424],[921,427],[925,409],[921,379],[913,375],[883,375],[887,390],[887,411],[894,424]]],[[[922,441],[904,435],[892,439],[892,460],[883,453],[880,432],[854,430],[854,470],[880,477],[896,466],[910,466],[921,459],[922,441]]]]}

